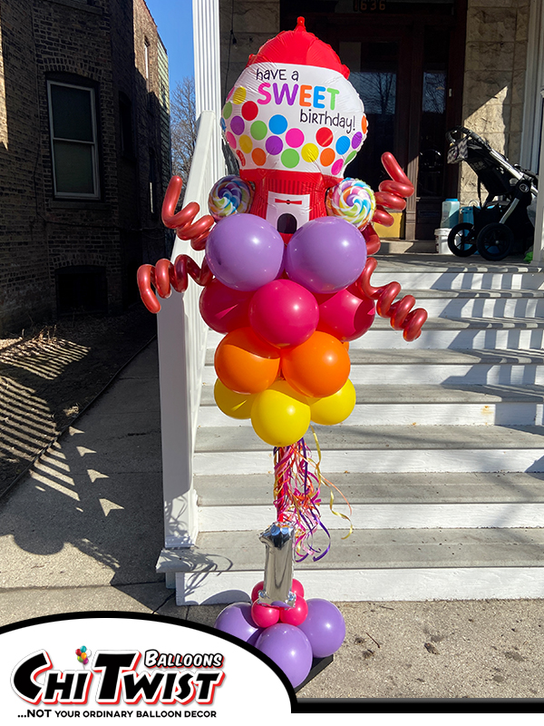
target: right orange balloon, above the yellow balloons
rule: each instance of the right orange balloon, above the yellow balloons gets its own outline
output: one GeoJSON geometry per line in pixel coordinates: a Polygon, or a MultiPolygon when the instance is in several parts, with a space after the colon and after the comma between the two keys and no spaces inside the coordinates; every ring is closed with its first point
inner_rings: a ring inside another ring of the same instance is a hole
{"type": "Polygon", "coordinates": [[[282,353],[281,369],[287,383],[305,396],[332,396],[349,376],[349,354],[338,338],[316,330],[282,353]]]}

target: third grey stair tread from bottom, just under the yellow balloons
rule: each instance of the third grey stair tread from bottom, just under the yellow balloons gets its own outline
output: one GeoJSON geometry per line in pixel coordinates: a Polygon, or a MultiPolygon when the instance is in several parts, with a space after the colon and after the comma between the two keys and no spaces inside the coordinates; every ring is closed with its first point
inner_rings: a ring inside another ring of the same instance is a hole
{"type": "MultiPolygon", "coordinates": [[[[323,451],[399,449],[539,449],[544,427],[538,426],[316,426],[323,451]]],[[[306,443],[315,448],[308,431],[306,443]]],[[[251,427],[199,427],[195,452],[271,452],[251,427]]]]}

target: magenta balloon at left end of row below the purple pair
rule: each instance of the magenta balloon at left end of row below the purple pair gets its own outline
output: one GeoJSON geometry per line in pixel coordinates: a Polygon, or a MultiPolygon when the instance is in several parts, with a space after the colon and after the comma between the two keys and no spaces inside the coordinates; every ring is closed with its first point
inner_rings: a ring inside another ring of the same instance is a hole
{"type": "Polygon", "coordinates": [[[228,288],[214,278],[200,294],[200,315],[204,322],[218,333],[248,328],[249,301],[252,294],[228,288]]]}

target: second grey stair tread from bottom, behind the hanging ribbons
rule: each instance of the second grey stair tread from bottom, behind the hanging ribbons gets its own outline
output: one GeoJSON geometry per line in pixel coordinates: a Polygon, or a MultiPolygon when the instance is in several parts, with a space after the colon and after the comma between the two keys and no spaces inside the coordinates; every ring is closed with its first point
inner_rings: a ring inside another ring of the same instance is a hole
{"type": "MultiPolygon", "coordinates": [[[[393,472],[323,475],[358,504],[504,504],[544,502],[544,473],[525,472],[393,472]]],[[[267,506],[274,499],[274,476],[195,476],[200,506],[267,506]]],[[[326,489],[323,499],[327,505],[326,489]]],[[[339,495],[335,502],[341,502],[339,495]]]]}

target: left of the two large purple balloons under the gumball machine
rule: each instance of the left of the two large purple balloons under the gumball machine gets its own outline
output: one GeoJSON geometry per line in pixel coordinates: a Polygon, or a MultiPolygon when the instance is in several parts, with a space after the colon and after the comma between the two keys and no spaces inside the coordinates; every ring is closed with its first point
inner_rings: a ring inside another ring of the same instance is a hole
{"type": "Polygon", "coordinates": [[[206,241],[209,269],[228,288],[240,290],[276,280],[283,270],[284,250],[276,228],[255,214],[225,217],[206,241]]]}

